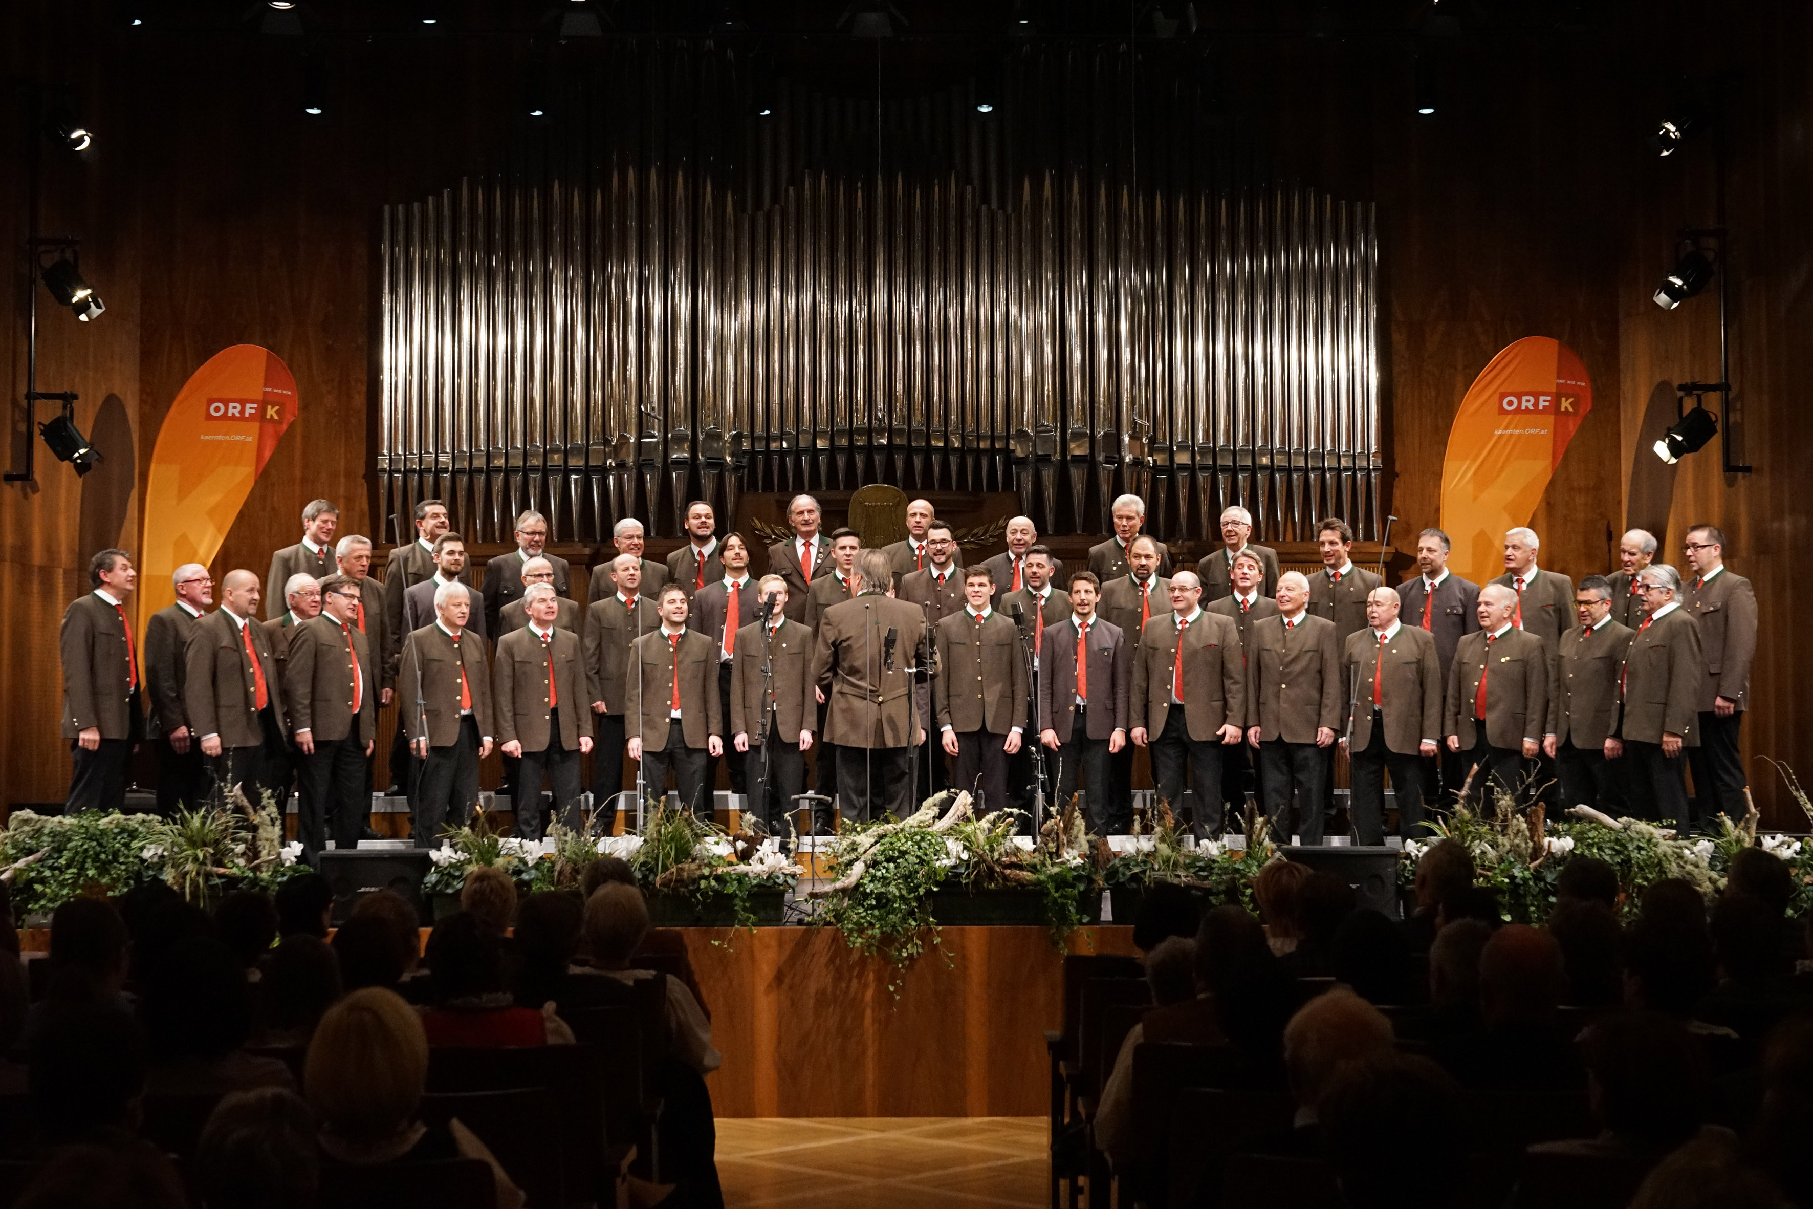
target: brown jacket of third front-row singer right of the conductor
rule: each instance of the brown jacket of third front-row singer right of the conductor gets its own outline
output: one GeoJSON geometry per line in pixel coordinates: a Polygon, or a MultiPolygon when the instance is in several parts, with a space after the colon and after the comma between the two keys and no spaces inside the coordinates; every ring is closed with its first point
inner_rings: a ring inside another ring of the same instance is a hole
{"type": "MultiPolygon", "coordinates": [[[[1133,647],[1133,687],[1128,725],[1144,727],[1148,741],[1164,734],[1171,716],[1171,680],[1177,671],[1177,614],[1155,616],[1133,647]]],[[[1184,629],[1184,723],[1197,743],[1218,743],[1227,723],[1246,730],[1246,667],[1240,660],[1240,627],[1233,618],[1207,609],[1184,629]]]]}

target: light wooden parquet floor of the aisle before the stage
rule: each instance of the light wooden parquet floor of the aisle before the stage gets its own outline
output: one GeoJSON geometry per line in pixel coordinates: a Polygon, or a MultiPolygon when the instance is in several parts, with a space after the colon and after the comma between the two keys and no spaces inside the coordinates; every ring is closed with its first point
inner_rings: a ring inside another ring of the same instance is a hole
{"type": "Polygon", "coordinates": [[[727,1209],[1042,1209],[1042,1117],[720,1118],[727,1209]]]}

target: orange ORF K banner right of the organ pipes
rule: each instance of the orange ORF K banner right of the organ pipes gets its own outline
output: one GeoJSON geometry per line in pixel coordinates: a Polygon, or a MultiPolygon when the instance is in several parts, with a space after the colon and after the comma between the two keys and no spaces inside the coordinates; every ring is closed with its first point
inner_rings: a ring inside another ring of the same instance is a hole
{"type": "Polygon", "coordinates": [[[1441,462],[1441,527],[1454,538],[1454,575],[1485,584],[1505,573],[1505,529],[1530,524],[1590,410],[1586,366],[1546,335],[1505,346],[1479,372],[1441,462]]]}

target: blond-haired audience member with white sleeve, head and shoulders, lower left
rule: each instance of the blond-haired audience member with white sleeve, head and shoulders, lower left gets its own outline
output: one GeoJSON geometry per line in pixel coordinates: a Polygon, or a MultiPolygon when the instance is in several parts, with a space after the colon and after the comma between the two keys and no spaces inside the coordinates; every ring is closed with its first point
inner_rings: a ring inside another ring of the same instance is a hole
{"type": "Polygon", "coordinates": [[[426,1084],[428,1033],[415,1008],[375,986],[328,1008],[308,1042],[303,1069],[308,1106],[321,1127],[323,1175],[335,1165],[482,1158],[497,1182],[497,1207],[520,1209],[522,1191],[471,1129],[459,1120],[446,1126],[421,1120],[426,1084]]]}

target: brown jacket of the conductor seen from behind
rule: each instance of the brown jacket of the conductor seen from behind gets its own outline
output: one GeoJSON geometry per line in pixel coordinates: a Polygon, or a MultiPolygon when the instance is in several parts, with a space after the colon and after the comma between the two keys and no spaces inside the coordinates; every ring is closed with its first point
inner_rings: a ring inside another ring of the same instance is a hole
{"type": "Polygon", "coordinates": [[[923,723],[906,669],[923,634],[925,611],[881,593],[825,609],[812,643],[812,683],[825,692],[827,743],[874,750],[914,741],[923,723]],[[897,634],[892,669],[883,642],[890,627],[897,634]]]}

